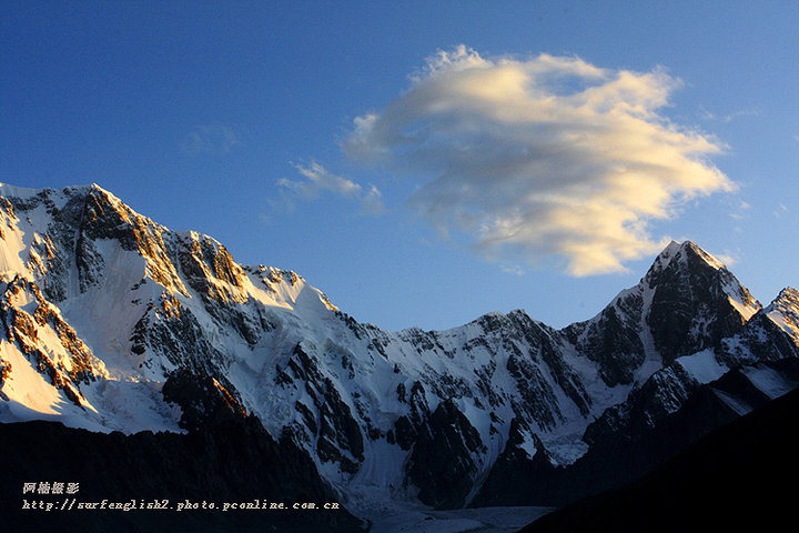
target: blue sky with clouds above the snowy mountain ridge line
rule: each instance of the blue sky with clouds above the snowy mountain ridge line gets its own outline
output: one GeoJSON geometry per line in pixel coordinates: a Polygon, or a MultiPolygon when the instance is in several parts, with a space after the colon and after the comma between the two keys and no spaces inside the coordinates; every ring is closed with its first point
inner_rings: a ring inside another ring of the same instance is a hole
{"type": "Polygon", "coordinates": [[[97,182],[357,320],[556,326],[667,239],[799,285],[799,2],[0,4],[0,181],[97,182]]]}

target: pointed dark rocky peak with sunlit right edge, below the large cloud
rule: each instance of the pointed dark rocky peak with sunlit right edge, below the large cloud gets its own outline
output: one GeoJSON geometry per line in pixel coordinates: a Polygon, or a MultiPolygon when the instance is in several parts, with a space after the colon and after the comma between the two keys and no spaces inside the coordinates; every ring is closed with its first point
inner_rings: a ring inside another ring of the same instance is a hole
{"type": "Polygon", "coordinates": [[[640,283],[564,331],[614,386],[716,346],[760,309],[721,261],[691,241],[671,241],[640,283]]]}

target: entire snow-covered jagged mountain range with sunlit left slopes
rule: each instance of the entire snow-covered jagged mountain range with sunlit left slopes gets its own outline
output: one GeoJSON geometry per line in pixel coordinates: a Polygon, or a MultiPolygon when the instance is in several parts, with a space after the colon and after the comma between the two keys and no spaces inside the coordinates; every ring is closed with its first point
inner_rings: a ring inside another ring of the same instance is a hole
{"type": "Polygon", "coordinates": [[[352,502],[463,505],[497,457],[570,464],[636,398],[656,425],[702,383],[799,345],[795,290],[763,309],[690,242],[563,330],[513,311],[386,332],[97,185],[0,192],[1,421],[192,429],[213,411],[181,393],[188,374],[273,436],[289,429],[352,502]]]}

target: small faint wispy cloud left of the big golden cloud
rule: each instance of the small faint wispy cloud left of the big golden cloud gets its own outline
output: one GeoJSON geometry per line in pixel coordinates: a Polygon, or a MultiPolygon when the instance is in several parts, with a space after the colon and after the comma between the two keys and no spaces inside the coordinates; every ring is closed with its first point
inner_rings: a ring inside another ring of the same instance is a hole
{"type": "Polygon", "coordinates": [[[284,198],[290,202],[294,199],[312,201],[323,193],[332,193],[356,200],[365,214],[380,214],[385,211],[381,191],[374,185],[364,189],[347,178],[328,172],[315,161],[310,164],[294,164],[294,168],[300,172],[300,179],[277,180],[277,184],[283,188],[284,198]]]}

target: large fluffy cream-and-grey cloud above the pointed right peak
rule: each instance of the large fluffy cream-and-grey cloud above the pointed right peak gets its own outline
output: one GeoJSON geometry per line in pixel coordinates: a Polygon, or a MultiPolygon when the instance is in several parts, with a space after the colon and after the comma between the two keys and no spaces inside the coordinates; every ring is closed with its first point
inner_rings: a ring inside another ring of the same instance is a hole
{"type": "Polygon", "coordinates": [[[708,158],[724,147],[658,110],[681,82],[663,69],[600,69],[579,58],[438,52],[343,143],[356,161],[423,182],[408,204],[484,257],[574,275],[653,253],[656,219],[735,184],[708,158]]]}

